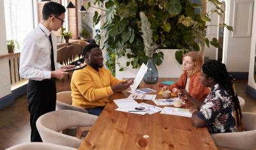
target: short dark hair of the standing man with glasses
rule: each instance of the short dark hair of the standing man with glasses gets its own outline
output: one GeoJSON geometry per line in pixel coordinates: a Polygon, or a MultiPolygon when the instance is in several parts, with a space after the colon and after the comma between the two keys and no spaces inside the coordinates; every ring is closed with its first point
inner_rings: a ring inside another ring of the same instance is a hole
{"type": "Polygon", "coordinates": [[[58,17],[61,15],[61,13],[65,13],[65,11],[66,9],[64,6],[62,6],[59,3],[51,1],[49,3],[44,4],[44,8],[42,11],[43,19],[47,20],[51,15],[58,17]]]}

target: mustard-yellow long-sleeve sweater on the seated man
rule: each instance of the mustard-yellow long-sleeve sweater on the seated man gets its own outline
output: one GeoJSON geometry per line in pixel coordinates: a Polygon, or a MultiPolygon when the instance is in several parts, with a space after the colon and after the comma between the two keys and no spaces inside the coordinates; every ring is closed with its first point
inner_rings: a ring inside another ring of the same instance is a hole
{"type": "Polygon", "coordinates": [[[72,105],[90,109],[104,107],[113,94],[111,86],[115,86],[121,80],[111,75],[106,68],[93,69],[87,64],[81,70],[74,71],[71,79],[72,105]]]}

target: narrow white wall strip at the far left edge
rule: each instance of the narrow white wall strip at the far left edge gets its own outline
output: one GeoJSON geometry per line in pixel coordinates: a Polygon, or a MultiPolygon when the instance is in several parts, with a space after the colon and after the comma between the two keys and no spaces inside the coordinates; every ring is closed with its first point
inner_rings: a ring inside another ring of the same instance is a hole
{"type": "MultiPolygon", "coordinates": [[[[0,55],[8,54],[6,47],[6,30],[4,20],[4,1],[0,1],[0,55]]],[[[11,93],[8,58],[0,58],[0,98],[11,93]]]]}

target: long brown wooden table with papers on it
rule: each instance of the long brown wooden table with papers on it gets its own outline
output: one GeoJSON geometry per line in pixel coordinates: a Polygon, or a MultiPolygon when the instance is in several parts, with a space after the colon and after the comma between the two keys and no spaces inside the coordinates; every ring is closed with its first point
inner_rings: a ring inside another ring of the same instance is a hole
{"type": "MultiPolygon", "coordinates": [[[[163,80],[172,79],[159,79],[163,80]]],[[[143,82],[143,81],[142,81],[143,82]]],[[[140,84],[157,92],[157,84],[140,84]]],[[[156,93],[154,93],[156,94],[156,93]]],[[[126,98],[129,93],[115,93],[100,114],[99,119],[83,140],[79,149],[217,149],[207,128],[195,128],[190,117],[166,114],[132,114],[119,112],[113,100],[126,98]],[[143,138],[148,135],[148,138],[143,138]]],[[[157,98],[161,96],[157,95],[157,98]]],[[[138,102],[155,105],[153,101],[138,102]]],[[[188,108],[184,105],[183,108],[188,108]]]]}

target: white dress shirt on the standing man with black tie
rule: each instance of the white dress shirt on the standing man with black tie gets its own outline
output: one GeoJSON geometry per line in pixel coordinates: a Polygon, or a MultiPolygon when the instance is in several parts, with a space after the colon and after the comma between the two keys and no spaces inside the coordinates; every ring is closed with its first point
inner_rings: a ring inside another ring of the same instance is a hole
{"type": "Polygon", "coordinates": [[[56,35],[40,23],[24,38],[20,52],[20,77],[31,80],[51,79],[50,34],[52,36],[55,69],[61,68],[61,64],[56,63],[56,35]]]}

